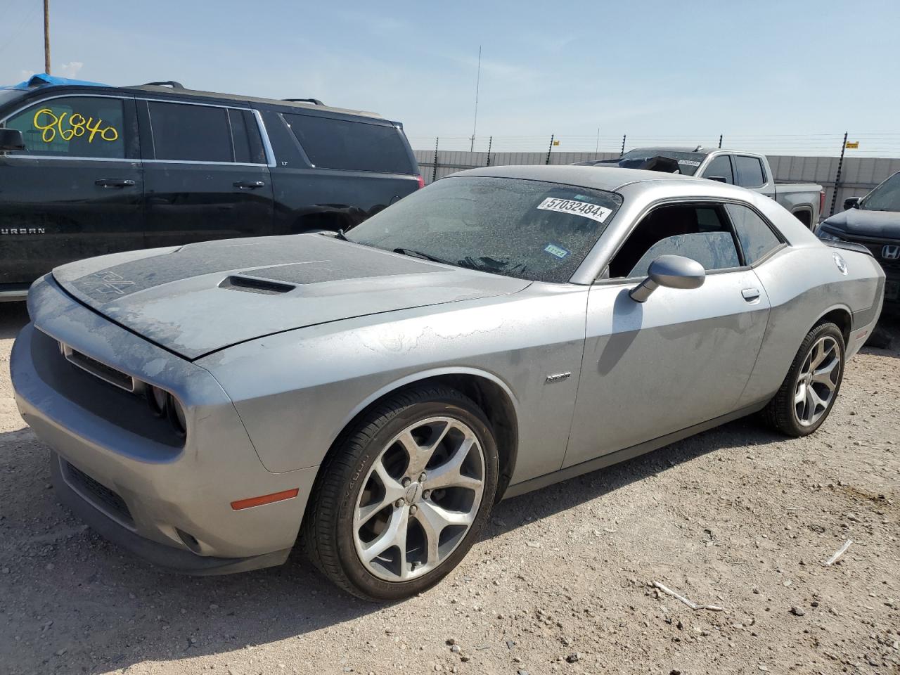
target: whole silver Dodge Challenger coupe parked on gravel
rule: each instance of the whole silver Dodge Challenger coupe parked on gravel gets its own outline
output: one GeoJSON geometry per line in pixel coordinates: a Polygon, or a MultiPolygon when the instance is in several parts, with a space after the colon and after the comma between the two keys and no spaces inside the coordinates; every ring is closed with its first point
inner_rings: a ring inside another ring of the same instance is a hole
{"type": "Polygon", "coordinates": [[[299,542],[391,600],[500,499],[752,413],[813,433],[884,280],[733,185],[489,167],[346,234],[58,267],[10,368],[59,499],[103,536],[195,574],[299,542]]]}

